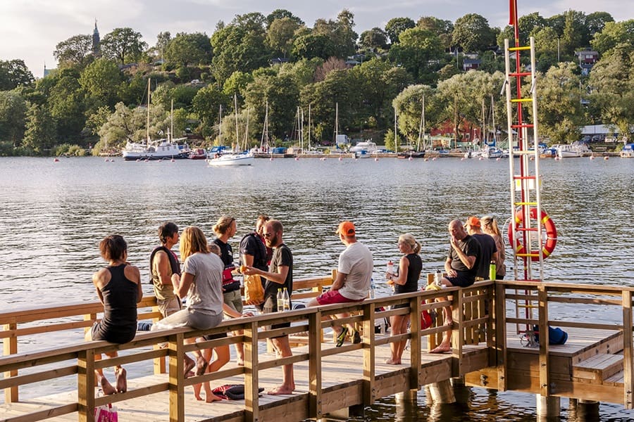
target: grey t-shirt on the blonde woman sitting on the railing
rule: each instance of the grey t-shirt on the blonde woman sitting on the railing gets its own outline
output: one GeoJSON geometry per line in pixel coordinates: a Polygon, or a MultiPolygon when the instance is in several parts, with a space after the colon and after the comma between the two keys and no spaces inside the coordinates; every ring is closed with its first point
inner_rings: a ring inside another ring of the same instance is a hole
{"type": "Polygon", "coordinates": [[[187,257],[182,272],[194,276],[187,291],[187,309],[207,315],[223,313],[224,267],[215,253],[196,252],[187,257]]]}

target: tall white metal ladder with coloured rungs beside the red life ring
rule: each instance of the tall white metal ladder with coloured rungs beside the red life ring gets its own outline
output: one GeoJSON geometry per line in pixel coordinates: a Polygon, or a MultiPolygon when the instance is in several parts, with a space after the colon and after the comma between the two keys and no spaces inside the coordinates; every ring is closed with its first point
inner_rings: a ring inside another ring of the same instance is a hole
{"type": "MultiPolygon", "coordinates": [[[[537,148],[537,84],[535,77],[535,39],[530,37],[529,46],[520,46],[518,27],[515,25],[515,46],[504,41],[506,65],[506,119],[509,130],[509,174],[511,188],[511,248],[514,257],[514,279],[517,281],[542,281],[544,255],[542,240],[544,235],[540,225],[542,203],[540,194],[540,153],[537,148]],[[530,51],[530,71],[522,69],[521,51],[530,51]],[[515,56],[515,70],[511,70],[511,56],[515,56]],[[530,96],[522,95],[522,82],[530,77],[530,96]],[[532,107],[532,115],[524,113],[532,107]],[[530,121],[532,117],[532,122],[530,121]],[[514,121],[515,120],[515,121],[514,121]],[[532,129],[532,141],[529,131],[532,129]],[[514,148],[517,146],[517,149],[514,148]],[[519,158],[516,168],[515,158],[519,158]],[[535,219],[531,221],[531,212],[535,219]],[[521,223],[519,223],[521,222],[521,223]]],[[[536,302],[516,300],[516,316],[533,319],[536,302]]],[[[523,333],[529,346],[535,346],[535,333],[529,324],[517,324],[517,331],[523,333]]]]}

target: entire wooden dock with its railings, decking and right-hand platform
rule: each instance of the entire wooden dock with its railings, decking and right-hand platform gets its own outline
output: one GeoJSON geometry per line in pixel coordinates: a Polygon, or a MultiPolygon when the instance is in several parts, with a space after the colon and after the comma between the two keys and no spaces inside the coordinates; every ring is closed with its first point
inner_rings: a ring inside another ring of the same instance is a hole
{"type": "MultiPolygon", "coordinates": [[[[331,282],[331,277],[296,283],[306,286],[294,298],[310,297],[331,282]],[[304,284],[303,284],[304,283],[304,284]]],[[[363,331],[361,344],[346,343],[334,347],[323,337],[332,321],[323,317],[342,311],[340,305],[329,305],[292,312],[267,314],[225,321],[204,333],[244,329],[238,337],[183,345],[182,340],[202,332],[188,328],[139,333],[125,345],[107,342],[78,342],[51,350],[19,352],[16,339],[35,332],[77,329],[88,326],[97,316],[99,304],[30,309],[0,314],[4,331],[5,356],[0,358],[0,371],[5,373],[0,388],[5,389],[5,404],[0,408],[0,421],[92,421],[92,409],[112,402],[118,407],[122,421],[302,421],[323,418],[326,414],[350,407],[372,404],[379,397],[418,390],[423,385],[463,377],[467,385],[496,390],[530,392],[543,397],[572,397],[623,404],[632,409],[633,391],[633,314],[631,288],[610,286],[568,285],[554,283],[518,283],[483,281],[470,288],[447,288],[440,291],[409,293],[366,300],[347,305],[352,316],[342,322],[356,324],[363,331]],[[447,300],[449,295],[449,300],[447,300]],[[568,320],[548,318],[549,305],[564,302],[576,307],[616,306],[623,321],[614,324],[588,324],[573,316],[568,320]],[[395,303],[408,303],[408,308],[378,311],[395,303]],[[535,310],[533,316],[511,317],[514,306],[526,303],[535,310]],[[453,326],[435,326],[421,330],[420,319],[412,319],[412,333],[389,337],[375,333],[375,319],[392,314],[411,313],[422,309],[438,309],[451,304],[453,326]],[[534,305],[533,305],[534,304],[534,305]],[[490,314],[487,313],[490,311],[490,314]],[[68,316],[81,316],[68,322],[68,316]],[[44,318],[46,316],[46,318],[44,318]],[[64,322],[45,326],[22,327],[32,321],[66,318],[64,322]],[[272,322],[290,321],[290,328],[263,331],[272,322]],[[526,347],[516,332],[518,327],[540,327],[542,342],[526,347]],[[554,325],[568,332],[565,345],[547,344],[547,326],[554,325]],[[451,331],[454,349],[451,354],[429,354],[428,347],[437,344],[444,331],[451,331]],[[293,356],[283,359],[258,353],[258,344],[280,333],[302,338],[307,344],[296,347],[293,356]],[[411,347],[403,363],[387,365],[389,343],[409,338],[411,347]],[[168,343],[167,349],[157,347],[168,343]],[[228,364],[217,373],[185,378],[182,354],[196,348],[244,342],[245,366],[228,364]],[[120,350],[116,359],[94,360],[104,350],[120,350]],[[167,366],[164,363],[167,360],[167,366]],[[114,363],[147,362],[154,375],[129,380],[123,394],[96,397],[93,369],[114,363]],[[258,387],[268,388],[280,381],[283,364],[294,365],[296,391],[292,395],[259,395],[258,387]],[[37,368],[46,365],[46,369],[37,368]],[[51,365],[56,365],[50,369],[51,365]],[[19,399],[18,388],[30,383],[74,376],[77,390],[46,395],[35,399],[19,399]],[[211,381],[212,387],[223,384],[244,384],[245,399],[207,404],[194,399],[189,385],[211,381]],[[89,387],[87,387],[89,386],[89,387]]],[[[141,307],[151,307],[153,298],[146,298],[141,307]]],[[[143,317],[156,316],[151,310],[143,317]]],[[[50,335],[50,334],[49,334],[50,335]]]]}

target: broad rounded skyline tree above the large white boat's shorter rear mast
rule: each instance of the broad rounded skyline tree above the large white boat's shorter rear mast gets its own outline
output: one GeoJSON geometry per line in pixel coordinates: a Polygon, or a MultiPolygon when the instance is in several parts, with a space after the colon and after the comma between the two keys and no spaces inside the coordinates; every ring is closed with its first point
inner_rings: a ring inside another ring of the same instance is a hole
{"type": "Polygon", "coordinates": [[[171,39],[164,52],[168,65],[187,68],[189,65],[209,65],[211,63],[211,43],[207,34],[181,32],[171,39]]]}

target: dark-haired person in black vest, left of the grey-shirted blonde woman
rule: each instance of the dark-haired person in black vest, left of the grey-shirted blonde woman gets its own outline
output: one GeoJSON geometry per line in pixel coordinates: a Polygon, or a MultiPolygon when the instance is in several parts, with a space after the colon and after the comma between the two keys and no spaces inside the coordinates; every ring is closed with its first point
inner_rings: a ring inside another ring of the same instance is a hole
{"type": "Polygon", "coordinates": [[[180,298],[175,295],[172,286],[172,275],[180,276],[180,263],[176,254],[172,252],[173,246],[178,243],[178,238],[176,224],[173,222],[161,224],[159,227],[161,246],[154,248],[150,254],[150,277],[156,296],[156,305],[163,318],[182,308],[180,298]]]}

